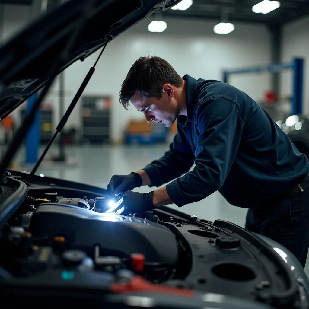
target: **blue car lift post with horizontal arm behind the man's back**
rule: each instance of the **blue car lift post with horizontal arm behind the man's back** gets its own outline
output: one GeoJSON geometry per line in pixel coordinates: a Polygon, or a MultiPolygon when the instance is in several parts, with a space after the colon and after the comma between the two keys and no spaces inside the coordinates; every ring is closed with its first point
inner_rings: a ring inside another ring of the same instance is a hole
{"type": "Polygon", "coordinates": [[[294,58],[291,63],[272,64],[264,66],[253,66],[246,69],[223,71],[223,82],[228,83],[231,74],[261,73],[261,72],[281,72],[292,70],[293,72],[293,94],[292,94],[292,115],[303,113],[303,58],[294,58]]]}

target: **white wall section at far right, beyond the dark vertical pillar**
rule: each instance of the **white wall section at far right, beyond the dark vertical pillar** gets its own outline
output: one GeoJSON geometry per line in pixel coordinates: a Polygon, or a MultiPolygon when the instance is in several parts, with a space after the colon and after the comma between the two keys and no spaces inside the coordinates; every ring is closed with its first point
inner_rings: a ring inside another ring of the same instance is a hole
{"type": "MultiPolygon", "coordinates": [[[[305,59],[303,84],[303,112],[309,112],[309,16],[287,24],[282,33],[282,61],[291,61],[293,57],[305,59]]],[[[292,93],[292,74],[281,74],[281,94],[292,93]]]]}

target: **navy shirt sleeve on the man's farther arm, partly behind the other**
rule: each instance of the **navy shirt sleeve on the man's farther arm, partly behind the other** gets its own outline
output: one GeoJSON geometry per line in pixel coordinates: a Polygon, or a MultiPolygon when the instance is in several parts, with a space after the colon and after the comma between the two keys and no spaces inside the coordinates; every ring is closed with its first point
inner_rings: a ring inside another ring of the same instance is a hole
{"type": "Polygon", "coordinates": [[[178,129],[177,131],[170,149],[159,160],[151,162],[143,169],[151,180],[151,186],[158,187],[180,177],[188,172],[194,163],[195,155],[184,133],[178,129]]]}

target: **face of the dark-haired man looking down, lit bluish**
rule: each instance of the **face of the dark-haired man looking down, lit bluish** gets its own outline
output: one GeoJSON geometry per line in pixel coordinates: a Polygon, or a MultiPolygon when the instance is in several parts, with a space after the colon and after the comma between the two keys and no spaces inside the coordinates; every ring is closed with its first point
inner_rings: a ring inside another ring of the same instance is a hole
{"type": "Polygon", "coordinates": [[[147,122],[155,121],[169,127],[175,122],[180,108],[177,106],[174,89],[170,84],[163,85],[161,93],[161,99],[145,99],[135,93],[130,101],[138,111],[144,113],[147,122]]]}

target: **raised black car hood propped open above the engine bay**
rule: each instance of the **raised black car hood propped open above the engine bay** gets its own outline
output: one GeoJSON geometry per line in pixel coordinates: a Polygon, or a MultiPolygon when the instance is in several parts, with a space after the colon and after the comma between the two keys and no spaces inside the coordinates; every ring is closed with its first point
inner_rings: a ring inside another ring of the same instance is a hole
{"type": "MultiPolygon", "coordinates": [[[[46,83],[46,73],[59,57],[88,1],[70,0],[41,16],[0,49],[0,120],[46,83]]],[[[96,0],[58,73],[83,61],[106,43],[115,23],[116,37],[155,11],[167,10],[180,0],[96,0]]]]}

